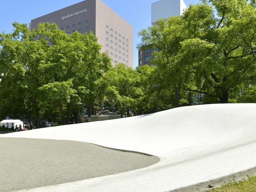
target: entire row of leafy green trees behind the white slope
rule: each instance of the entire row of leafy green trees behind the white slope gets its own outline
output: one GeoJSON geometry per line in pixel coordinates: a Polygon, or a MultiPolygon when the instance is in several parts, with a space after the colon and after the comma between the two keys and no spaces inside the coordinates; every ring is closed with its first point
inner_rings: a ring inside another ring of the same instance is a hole
{"type": "Polygon", "coordinates": [[[80,115],[140,115],[194,104],[256,102],[256,1],[201,0],[141,30],[151,66],[112,66],[92,34],[56,24],[0,34],[0,118],[69,124],[80,115]]]}

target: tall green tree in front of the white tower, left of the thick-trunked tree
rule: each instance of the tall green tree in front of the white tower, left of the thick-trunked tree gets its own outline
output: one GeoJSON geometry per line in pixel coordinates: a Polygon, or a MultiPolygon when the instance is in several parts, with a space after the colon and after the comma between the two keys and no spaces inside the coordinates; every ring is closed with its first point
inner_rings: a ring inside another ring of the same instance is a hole
{"type": "Polygon", "coordinates": [[[151,75],[151,95],[154,95],[156,110],[164,110],[182,104],[184,88],[184,75],[177,75],[171,66],[171,59],[176,56],[181,48],[180,42],[188,38],[184,30],[185,22],[181,17],[170,17],[168,20],[158,20],[158,25],[150,26],[147,30],[139,32],[142,42],[138,48],[154,48],[150,62],[156,67],[151,75]],[[180,98],[180,99],[179,99],[180,98]]]}

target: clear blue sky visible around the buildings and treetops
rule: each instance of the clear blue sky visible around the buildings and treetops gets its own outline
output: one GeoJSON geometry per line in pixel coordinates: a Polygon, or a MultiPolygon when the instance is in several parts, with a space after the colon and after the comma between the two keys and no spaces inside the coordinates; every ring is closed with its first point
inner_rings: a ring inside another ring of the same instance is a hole
{"type": "MultiPolygon", "coordinates": [[[[134,30],[134,68],[138,66],[138,50],[136,45],[140,43],[138,32],[151,25],[151,4],[158,0],[102,0],[107,6],[122,16],[133,26],[134,30]]],[[[183,0],[186,6],[197,4],[200,0],[183,0]]],[[[3,0],[0,11],[0,33],[10,33],[13,30],[12,23],[29,24],[32,19],[65,8],[82,0],[3,0]]]]}

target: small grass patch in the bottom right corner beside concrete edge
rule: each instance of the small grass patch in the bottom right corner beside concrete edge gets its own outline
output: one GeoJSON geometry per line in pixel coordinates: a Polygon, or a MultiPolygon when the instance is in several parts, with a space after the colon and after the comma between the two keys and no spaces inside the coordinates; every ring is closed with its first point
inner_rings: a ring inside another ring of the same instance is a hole
{"type": "Polygon", "coordinates": [[[248,177],[248,180],[229,182],[207,192],[256,192],[256,176],[248,177]]]}

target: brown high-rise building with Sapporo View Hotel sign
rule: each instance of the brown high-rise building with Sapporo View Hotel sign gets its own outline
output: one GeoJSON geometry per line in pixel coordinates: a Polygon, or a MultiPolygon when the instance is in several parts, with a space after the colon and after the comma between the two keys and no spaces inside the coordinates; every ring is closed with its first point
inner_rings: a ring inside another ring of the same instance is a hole
{"type": "Polygon", "coordinates": [[[68,34],[92,31],[113,66],[124,63],[133,68],[133,28],[101,0],[85,0],[33,19],[30,28],[37,28],[40,22],[54,22],[68,34]]]}

